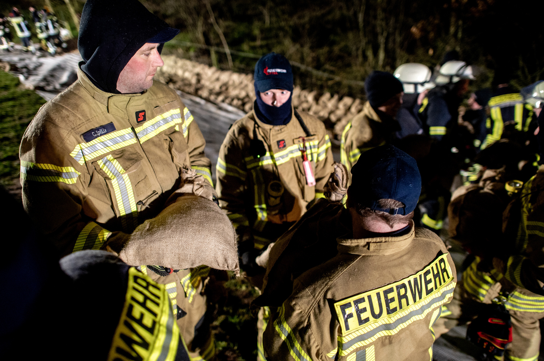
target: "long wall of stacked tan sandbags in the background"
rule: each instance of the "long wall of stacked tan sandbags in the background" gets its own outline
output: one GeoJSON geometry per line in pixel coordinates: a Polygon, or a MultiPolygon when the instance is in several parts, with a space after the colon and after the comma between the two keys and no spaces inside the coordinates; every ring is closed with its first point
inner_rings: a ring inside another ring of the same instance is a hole
{"type": "MultiPolygon", "coordinates": [[[[164,66],[157,70],[157,79],[172,88],[212,102],[227,103],[246,112],[251,110],[255,101],[252,74],[219,70],[175,55],[166,55],[163,60],[164,66]]],[[[338,94],[328,92],[319,95],[315,90],[302,90],[299,86],[293,90],[293,106],[324,121],[338,140],[348,121],[361,111],[363,103],[361,99],[340,98],[338,94]]]]}

